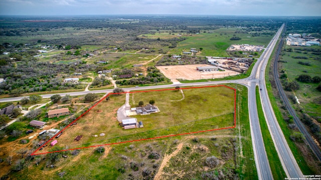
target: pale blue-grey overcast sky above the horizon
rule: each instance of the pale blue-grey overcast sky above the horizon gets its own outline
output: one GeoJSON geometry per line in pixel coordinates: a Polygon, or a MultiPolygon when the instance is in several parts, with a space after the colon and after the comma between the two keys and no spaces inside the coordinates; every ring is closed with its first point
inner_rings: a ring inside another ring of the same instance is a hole
{"type": "Polygon", "coordinates": [[[0,15],[321,15],[321,0],[0,0],[0,15]]]}

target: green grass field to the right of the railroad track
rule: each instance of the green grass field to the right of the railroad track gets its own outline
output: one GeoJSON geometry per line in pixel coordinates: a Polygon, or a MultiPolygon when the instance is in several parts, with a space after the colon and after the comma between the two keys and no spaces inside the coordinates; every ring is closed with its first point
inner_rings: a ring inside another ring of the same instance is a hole
{"type": "MultiPolygon", "coordinates": [[[[293,51],[284,52],[281,59],[287,62],[279,63],[280,68],[285,69],[289,81],[295,80],[300,74],[307,74],[311,77],[321,77],[321,61],[314,59],[314,57],[318,57],[318,55],[307,51],[295,50],[296,47],[293,46],[285,46],[285,48],[290,47],[293,48],[293,51]],[[293,56],[306,56],[308,59],[297,59],[293,58],[293,56]],[[310,65],[302,65],[297,63],[298,61],[308,62],[310,65]]],[[[311,46],[310,48],[321,49],[321,46],[311,46]]],[[[315,99],[321,96],[321,92],[316,89],[319,83],[304,83],[299,81],[298,83],[300,89],[295,90],[295,95],[299,99],[300,105],[304,108],[306,113],[321,122],[321,104],[315,103],[315,99]]]]}

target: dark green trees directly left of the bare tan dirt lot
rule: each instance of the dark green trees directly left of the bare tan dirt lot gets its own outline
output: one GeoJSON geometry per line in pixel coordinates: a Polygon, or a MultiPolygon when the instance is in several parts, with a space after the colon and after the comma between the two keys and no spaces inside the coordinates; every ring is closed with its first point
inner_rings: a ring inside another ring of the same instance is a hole
{"type": "Polygon", "coordinates": [[[131,78],[129,80],[116,80],[116,84],[120,85],[138,85],[169,81],[156,67],[149,68],[149,72],[144,77],[131,78]]]}

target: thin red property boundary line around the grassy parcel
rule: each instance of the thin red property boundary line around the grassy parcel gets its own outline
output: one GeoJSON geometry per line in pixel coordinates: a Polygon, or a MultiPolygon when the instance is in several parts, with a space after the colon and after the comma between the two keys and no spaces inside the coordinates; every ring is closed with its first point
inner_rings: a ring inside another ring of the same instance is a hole
{"type": "Polygon", "coordinates": [[[185,133],[179,133],[179,134],[171,134],[171,135],[163,135],[163,136],[157,136],[157,137],[149,137],[149,138],[142,138],[142,139],[135,139],[135,140],[127,140],[127,141],[121,141],[121,142],[113,142],[113,143],[106,143],[106,144],[99,144],[99,145],[91,145],[86,147],[77,147],[77,148],[71,148],[71,149],[63,149],[63,150],[56,150],[56,151],[50,151],[50,152],[41,152],[36,153],[38,150],[40,150],[43,146],[45,146],[47,143],[49,143],[52,139],[54,139],[58,134],[63,132],[66,128],[70,126],[70,124],[76,122],[78,119],[80,119],[82,116],[84,116],[87,112],[89,112],[93,107],[95,107],[97,104],[99,104],[101,101],[103,101],[106,97],[108,97],[110,94],[122,94],[122,93],[136,93],[136,92],[151,92],[151,91],[165,91],[165,90],[176,90],[176,88],[171,89],[156,89],[156,90],[140,90],[140,91],[134,91],[134,92],[120,92],[120,93],[108,93],[106,96],[101,98],[98,102],[96,102],[93,106],[88,108],[84,113],[82,113],[79,117],[77,117],[75,120],[70,122],[65,128],[59,131],[56,135],[51,137],[47,142],[45,142],[43,145],[38,147],[31,155],[40,155],[40,154],[47,154],[47,153],[54,153],[54,152],[61,152],[61,151],[68,151],[68,150],[75,150],[75,149],[83,149],[83,148],[90,148],[90,147],[98,147],[98,146],[105,146],[105,145],[112,145],[112,144],[120,144],[120,143],[127,143],[127,142],[135,142],[135,141],[142,141],[142,140],[150,140],[150,139],[158,139],[158,138],[165,138],[165,137],[173,137],[173,136],[179,136],[179,135],[187,135],[187,134],[194,134],[194,133],[200,133],[200,132],[208,132],[208,131],[214,131],[214,130],[222,130],[222,129],[230,129],[236,127],[236,89],[229,87],[227,85],[209,85],[209,86],[200,86],[200,87],[182,87],[179,89],[191,89],[191,88],[205,88],[205,87],[227,87],[229,89],[234,90],[234,126],[230,127],[221,127],[221,128],[215,128],[215,129],[208,129],[208,130],[200,130],[195,132],[185,132],[185,133]]]}

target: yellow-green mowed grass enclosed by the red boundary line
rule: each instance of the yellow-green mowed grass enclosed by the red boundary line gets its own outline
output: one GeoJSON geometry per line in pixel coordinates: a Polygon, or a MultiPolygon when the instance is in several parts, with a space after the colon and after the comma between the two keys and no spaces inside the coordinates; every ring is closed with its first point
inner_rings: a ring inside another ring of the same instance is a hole
{"type": "Polygon", "coordinates": [[[108,101],[103,100],[81,117],[77,125],[68,127],[57,145],[73,148],[234,125],[234,90],[205,87],[183,89],[183,92],[184,99],[178,90],[131,93],[131,107],[138,106],[140,100],[147,104],[154,99],[154,105],[160,110],[149,115],[132,116],[144,124],[143,128],[133,129],[123,129],[116,118],[116,111],[125,103],[126,95],[111,95],[108,101]],[[99,109],[103,111],[97,113],[99,109]],[[99,136],[100,133],[105,135],[99,136]],[[82,139],[74,141],[79,134],[83,135],[82,139]]]}

